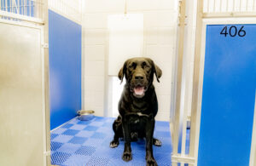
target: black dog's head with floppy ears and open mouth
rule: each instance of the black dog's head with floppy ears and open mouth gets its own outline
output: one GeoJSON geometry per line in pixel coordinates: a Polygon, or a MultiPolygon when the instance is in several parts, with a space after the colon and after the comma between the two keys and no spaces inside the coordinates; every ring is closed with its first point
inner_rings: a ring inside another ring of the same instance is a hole
{"type": "Polygon", "coordinates": [[[137,98],[142,98],[148,87],[153,83],[154,74],[159,82],[162,71],[149,58],[132,58],[125,61],[124,66],[119,71],[121,82],[125,77],[131,92],[137,98]]]}

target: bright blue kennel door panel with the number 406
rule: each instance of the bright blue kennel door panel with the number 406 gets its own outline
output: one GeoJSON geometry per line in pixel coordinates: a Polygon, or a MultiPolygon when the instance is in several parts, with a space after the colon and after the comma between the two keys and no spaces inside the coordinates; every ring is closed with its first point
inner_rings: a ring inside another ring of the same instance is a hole
{"type": "Polygon", "coordinates": [[[198,166],[248,166],[250,160],[256,25],[224,28],[207,26],[198,166]]]}

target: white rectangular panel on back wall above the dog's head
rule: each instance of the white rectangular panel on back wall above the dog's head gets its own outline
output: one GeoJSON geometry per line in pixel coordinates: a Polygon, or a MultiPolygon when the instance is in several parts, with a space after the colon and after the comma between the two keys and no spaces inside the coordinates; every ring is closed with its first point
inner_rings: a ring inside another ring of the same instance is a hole
{"type": "Polygon", "coordinates": [[[143,55],[143,14],[108,16],[108,75],[116,76],[124,61],[143,55]]]}

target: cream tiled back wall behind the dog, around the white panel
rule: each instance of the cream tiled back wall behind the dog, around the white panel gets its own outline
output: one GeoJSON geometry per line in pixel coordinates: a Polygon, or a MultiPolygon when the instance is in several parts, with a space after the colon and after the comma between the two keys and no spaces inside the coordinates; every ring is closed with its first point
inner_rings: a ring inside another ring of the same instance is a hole
{"type": "MultiPolygon", "coordinates": [[[[163,76],[155,82],[159,100],[157,120],[169,120],[173,90],[177,1],[127,0],[127,13],[144,18],[143,56],[160,66],[163,76]]],[[[108,15],[123,14],[125,1],[86,0],[83,14],[83,108],[108,115],[108,15]],[[105,97],[106,96],[106,97],[105,97]]]]}

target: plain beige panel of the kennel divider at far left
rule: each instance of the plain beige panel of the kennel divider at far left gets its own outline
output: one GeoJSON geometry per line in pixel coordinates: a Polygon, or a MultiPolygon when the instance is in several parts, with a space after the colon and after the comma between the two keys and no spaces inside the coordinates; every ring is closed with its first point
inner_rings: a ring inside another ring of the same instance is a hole
{"type": "Polygon", "coordinates": [[[43,165],[40,33],[0,23],[0,165],[43,165]]]}

